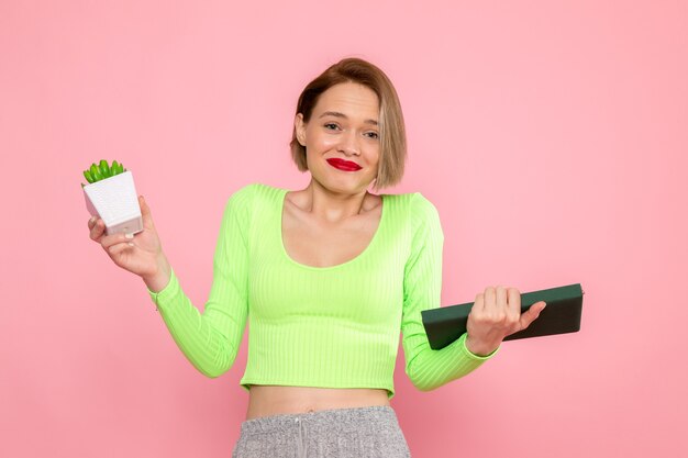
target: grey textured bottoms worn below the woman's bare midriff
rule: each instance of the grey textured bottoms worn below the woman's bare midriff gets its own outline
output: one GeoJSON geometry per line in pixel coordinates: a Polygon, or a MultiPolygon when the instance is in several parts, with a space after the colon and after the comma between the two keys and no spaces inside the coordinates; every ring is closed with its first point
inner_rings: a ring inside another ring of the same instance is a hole
{"type": "Polygon", "coordinates": [[[232,458],[409,458],[388,405],[332,409],[246,420],[232,458]]]}

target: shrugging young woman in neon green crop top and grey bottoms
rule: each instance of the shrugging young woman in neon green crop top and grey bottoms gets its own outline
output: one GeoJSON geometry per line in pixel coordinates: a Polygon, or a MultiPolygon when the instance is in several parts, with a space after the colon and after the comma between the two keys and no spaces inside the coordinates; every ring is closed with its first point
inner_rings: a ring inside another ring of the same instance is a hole
{"type": "Polygon", "coordinates": [[[299,97],[291,154],[306,189],[253,183],[224,209],[203,313],[184,293],[140,197],[144,231],[91,239],[144,280],[175,342],[199,371],[232,367],[249,323],[241,384],[249,392],[233,457],[409,457],[389,400],[399,333],[406,372],[420,390],[467,375],[509,334],[514,288],[476,295],[468,331],[433,350],[421,311],[440,306],[443,233],[421,193],[375,194],[401,179],[406,133],[387,76],[343,59],[299,97]]]}

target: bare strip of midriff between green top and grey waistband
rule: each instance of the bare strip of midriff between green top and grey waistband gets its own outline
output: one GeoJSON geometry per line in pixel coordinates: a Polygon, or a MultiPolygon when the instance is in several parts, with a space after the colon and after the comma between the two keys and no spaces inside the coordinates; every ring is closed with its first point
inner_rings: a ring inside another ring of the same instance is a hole
{"type": "Polygon", "coordinates": [[[246,420],[371,405],[389,405],[387,390],[253,384],[251,386],[246,420]]]}

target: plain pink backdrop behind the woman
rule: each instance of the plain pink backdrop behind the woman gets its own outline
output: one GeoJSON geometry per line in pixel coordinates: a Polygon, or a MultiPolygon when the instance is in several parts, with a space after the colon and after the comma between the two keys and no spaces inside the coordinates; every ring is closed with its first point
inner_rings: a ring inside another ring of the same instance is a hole
{"type": "Polygon", "coordinates": [[[229,457],[247,395],[184,357],[88,238],[81,170],[133,170],[202,309],[226,198],[300,189],[297,97],[379,65],[445,232],[443,305],[581,283],[577,334],[392,400],[414,457],[686,453],[688,8],[679,1],[0,2],[0,456],[229,457]]]}

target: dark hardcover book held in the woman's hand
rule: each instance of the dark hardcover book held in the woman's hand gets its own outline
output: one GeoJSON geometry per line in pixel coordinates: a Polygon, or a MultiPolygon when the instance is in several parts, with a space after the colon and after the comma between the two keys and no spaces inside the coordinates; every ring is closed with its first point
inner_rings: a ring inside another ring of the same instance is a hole
{"type": "MultiPolygon", "coordinates": [[[[522,293],[521,313],[540,301],[545,301],[547,306],[530,326],[507,336],[504,340],[580,331],[582,294],[585,292],[580,283],[522,293]]],[[[446,347],[466,332],[466,323],[473,304],[473,302],[467,302],[421,312],[428,342],[432,349],[446,347]]]]}

